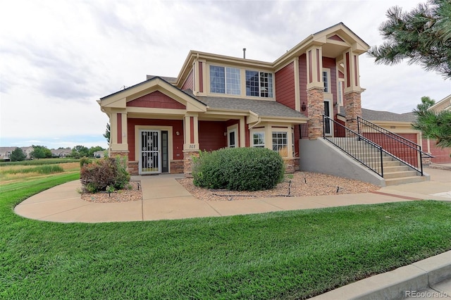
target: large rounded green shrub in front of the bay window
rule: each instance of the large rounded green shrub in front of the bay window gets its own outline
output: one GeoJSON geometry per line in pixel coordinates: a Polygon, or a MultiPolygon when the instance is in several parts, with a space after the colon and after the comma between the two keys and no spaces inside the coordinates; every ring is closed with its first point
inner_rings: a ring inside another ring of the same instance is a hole
{"type": "Polygon", "coordinates": [[[280,155],[266,148],[231,148],[201,152],[194,158],[194,185],[209,189],[258,191],[282,182],[285,166],[280,155]]]}

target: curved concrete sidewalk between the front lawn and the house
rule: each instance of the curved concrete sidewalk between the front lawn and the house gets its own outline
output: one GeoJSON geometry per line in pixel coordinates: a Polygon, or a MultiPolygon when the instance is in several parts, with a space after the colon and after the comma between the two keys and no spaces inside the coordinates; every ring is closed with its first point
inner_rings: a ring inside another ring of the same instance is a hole
{"type": "Polygon", "coordinates": [[[365,194],[272,197],[235,201],[202,201],[175,180],[183,175],[138,176],[142,200],[121,203],[83,201],[73,181],[47,189],[18,204],[14,211],[25,218],[62,223],[101,223],[214,217],[290,211],[353,204],[435,199],[451,201],[451,171],[426,169],[431,181],[383,187],[365,194]]]}

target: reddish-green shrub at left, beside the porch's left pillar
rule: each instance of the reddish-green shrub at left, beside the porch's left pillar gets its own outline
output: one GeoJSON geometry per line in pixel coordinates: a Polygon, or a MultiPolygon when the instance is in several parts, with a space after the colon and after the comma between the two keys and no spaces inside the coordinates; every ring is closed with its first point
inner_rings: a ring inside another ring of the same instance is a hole
{"type": "Polygon", "coordinates": [[[130,182],[125,159],[105,158],[82,166],[80,181],[87,192],[105,191],[107,187],[123,189],[130,182]]]}

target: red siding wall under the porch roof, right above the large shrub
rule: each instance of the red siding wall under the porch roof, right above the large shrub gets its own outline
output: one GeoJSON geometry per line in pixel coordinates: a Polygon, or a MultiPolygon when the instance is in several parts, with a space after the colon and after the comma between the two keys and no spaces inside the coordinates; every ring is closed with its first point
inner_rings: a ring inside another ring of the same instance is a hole
{"type": "Polygon", "coordinates": [[[199,121],[199,148],[214,151],[227,146],[227,125],[224,122],[199,121]]]}

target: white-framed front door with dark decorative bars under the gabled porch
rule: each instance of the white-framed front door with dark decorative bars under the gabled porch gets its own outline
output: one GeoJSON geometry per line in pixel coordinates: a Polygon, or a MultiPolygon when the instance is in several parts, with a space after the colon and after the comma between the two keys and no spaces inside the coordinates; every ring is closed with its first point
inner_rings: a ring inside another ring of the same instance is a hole
{"type": "Polygon", "coordinates": [[[140,174],[161,173],[160,131],[141,130],[140,149],[140,174]]]}

